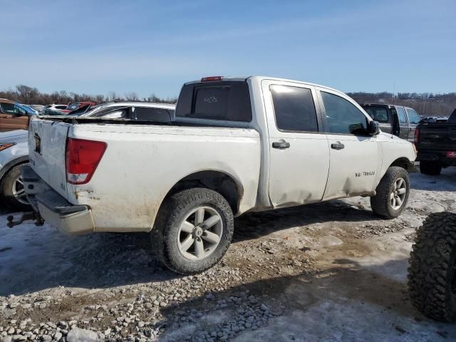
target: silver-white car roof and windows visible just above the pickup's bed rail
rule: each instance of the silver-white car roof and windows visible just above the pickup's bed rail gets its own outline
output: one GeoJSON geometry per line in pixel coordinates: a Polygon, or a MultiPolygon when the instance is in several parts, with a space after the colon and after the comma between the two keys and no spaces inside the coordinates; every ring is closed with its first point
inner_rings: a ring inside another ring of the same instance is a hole
{"type": "MultiPolygon", "coordinates": [[[[88,112],[79,115],[81,118],[127,119],[151,121],[163,118],[171,120],[176,105],[169,103],[119,101],[103,103],[90,108],[88,112]]],[[[70,114],[71,115],[71,114],[70,114]]]]}

